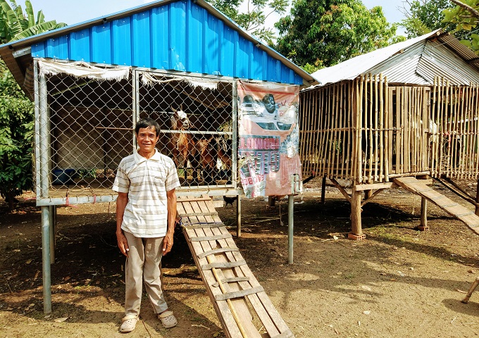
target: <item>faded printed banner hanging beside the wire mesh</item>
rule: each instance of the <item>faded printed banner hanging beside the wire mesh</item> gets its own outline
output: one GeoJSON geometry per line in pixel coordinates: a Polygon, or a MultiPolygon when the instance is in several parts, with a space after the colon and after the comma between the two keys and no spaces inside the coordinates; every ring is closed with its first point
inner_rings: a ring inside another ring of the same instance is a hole
{"type": "Polygon", "coordinates": [[[238,165],[244,194],[291,194],[299,175],[299,87],[238,81],[238,165]]]}

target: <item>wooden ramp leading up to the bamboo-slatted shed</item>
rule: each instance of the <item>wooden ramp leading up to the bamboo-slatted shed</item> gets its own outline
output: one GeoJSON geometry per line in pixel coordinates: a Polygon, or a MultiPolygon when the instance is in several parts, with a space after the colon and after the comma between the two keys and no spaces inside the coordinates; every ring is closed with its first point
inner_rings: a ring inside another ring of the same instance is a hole
{"type": "Polygon", "coordinates": [[[475,215],[474,211],[457,204],[456,202],[448,199],[440,192],[435,191],[433,188],[428,187],[420,180],[416,180],[414,177],[400,177],[395,178],[394,183],[409,190],[419,196],[424,197],[433,204],[442,208],[450,215],[459,218],[464,224],[466,224],[473,232],[479,234],[479,216],[475,215]]]}

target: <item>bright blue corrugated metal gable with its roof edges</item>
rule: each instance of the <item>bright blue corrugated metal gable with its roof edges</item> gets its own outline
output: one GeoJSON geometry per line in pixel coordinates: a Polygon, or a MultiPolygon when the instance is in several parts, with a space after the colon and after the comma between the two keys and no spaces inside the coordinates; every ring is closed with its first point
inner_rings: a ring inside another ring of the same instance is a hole
{"type": "Polygon", "coordinates": [[[156,1],[20,42],[33,58],[178,70],[287,84],[313,77],[203,0],[156,1]],[[30,42],[30,44],[29,44],[30,42]]]}

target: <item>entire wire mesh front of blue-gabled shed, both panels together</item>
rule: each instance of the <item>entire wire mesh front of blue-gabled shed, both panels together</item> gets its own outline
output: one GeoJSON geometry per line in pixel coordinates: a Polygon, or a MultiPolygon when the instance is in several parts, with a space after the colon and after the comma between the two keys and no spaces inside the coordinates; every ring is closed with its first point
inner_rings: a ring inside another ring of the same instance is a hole
{"type": "Polygon", "coordinates": [[[173,158],[182,187],[235,187],[232,92],[232,81],[138,70],[101,81],[37,75],[37,195],[113,200],[118,164],[136,145],[135,122],[147,117],[161,125],[156,148],[173,158]]]}

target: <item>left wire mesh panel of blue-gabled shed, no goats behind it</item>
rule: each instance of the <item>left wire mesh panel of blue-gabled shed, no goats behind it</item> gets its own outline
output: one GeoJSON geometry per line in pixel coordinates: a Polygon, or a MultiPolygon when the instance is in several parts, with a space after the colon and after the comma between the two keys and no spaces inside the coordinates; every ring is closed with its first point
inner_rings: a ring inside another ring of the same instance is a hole
{"type": "Polygon", "coordinates": [[[48,139],[39,137],[47,146],[37,154],[47,160],[40,162],[48,170],[48,197],[112,194],[118,163],[133,149],[131,80],[44,75],[39,87],[46,92],[39,129],[48,139]]]}

